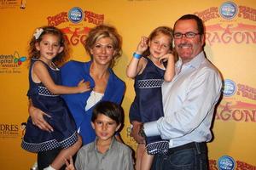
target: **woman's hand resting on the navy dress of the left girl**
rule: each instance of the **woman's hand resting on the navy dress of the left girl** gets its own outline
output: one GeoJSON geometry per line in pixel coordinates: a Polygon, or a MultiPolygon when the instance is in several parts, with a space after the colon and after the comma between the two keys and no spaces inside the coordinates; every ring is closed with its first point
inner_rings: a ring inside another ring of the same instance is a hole
{"type": "Polygon", "coordinates": [[[32,118],[33,125],[39,127],[42,130],[48,131],[48,132],[54,131],[53,127],[51,127],[49,125],[49,123],[44,120],[44,115],[49,116],[46,113],[44,113],[44,111],[39,110],[38,108],[34,107],[31,104],[31,105],[29,105],[28,112],[32,118]]]}

